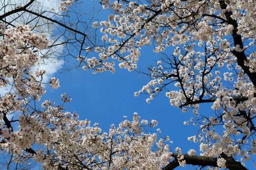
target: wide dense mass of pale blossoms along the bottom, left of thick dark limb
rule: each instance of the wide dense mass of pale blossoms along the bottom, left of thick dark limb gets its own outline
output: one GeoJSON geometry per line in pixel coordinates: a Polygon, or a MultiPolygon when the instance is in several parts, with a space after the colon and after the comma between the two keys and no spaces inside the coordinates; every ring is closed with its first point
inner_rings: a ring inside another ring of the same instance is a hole
{"type": "MultiPolygon", "coordinates": [[[[125,119],[118,127],[111,125],[109,133],[105,133],[98,124],[91,126],[89,120],[79,120],[76,113],[64,112],[60,105],[55,106],[50,101],[43,105],[45,110],[40,113],[21,115],[16,132],[1,132],[9,139],[0,144],[1,148],[13,151],[18,160],[33,158],[42,168],[52,170],[59,166],[98,170],[99,165],[100,169],[161,170],[173,154],[163,139],[157,140],[155,133],[144,132],[144,128],[152,126],[147,120],[143,120],[142,125],[137,113],[132,121],[125,119]],[[37,150],[37,154],[24,155],[23,149],[34,143],[43,145],[43,149],[37,150]],[[79,165],[78,160],[81,160],[79,165]]],[[[157,124],[156,120],[151,122],[157,124]]]]}

